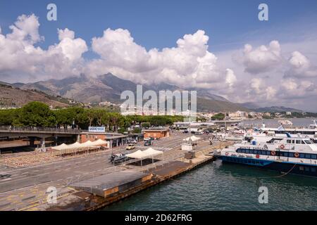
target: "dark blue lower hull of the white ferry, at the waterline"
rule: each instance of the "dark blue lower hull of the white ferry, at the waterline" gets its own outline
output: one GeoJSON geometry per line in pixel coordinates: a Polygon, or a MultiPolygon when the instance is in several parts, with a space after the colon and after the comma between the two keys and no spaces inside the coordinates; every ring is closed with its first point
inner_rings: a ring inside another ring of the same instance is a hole
{"type": "Polygon", "coordinates": [[[221,155],[220,159],[225,163],[242,164],[251,167],[275,170],[283,173],[317,177],[317,165],[308,165],[303,163],[295,164],[294,162],[276,162],[254,158],[238,158],[225,155],[221,155]]]}

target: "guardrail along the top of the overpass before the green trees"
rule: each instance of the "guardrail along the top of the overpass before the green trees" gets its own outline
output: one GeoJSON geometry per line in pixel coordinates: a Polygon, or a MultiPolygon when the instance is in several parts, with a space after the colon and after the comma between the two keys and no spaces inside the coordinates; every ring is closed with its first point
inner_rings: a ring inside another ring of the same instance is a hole
{"type": "Polygon", "coordinates": [[[80,134],[82,131],[87,131],[85,129],[59,129],[55,127],[11,127],[11,126],[1,126],[0,131],[22,131],[22,132],[53,132],[53,133],[71,133],[71,134],[80,134]]]}

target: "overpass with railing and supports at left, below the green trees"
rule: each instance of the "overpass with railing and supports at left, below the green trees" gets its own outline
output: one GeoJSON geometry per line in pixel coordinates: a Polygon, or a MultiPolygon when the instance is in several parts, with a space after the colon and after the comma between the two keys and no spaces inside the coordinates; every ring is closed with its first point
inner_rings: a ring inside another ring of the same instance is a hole
{"type": "Polygon", "coordinates": [[[36,138],[41,140],[42,147],[45,146],[45,139],[49,137],[79,137],[82,129],[58,129],[51,127],[0,127],[0,138],[1,137],[27,137],[30,139],[30,146],[34,146],[36,138]]]}

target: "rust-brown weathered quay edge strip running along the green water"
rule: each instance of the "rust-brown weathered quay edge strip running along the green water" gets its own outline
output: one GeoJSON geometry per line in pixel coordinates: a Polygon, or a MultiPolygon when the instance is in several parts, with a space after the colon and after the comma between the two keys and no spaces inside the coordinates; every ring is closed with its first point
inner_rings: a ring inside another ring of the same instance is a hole
{"type": "MultiPolygon", "coordinates": [[[[80,191],[79,189],[83,188],[77,188],[78,191],[73,193],[77,197],[76,201],[74,200],[71,203],[56,205],[54,207],[49,207],[46,210],[72,210],[75,206],[78,210],[84,210],[84,211],[93,211],[93,210],[99,210],[102,207],[105,207],[106,205],[110,205],[111,203],[115,203],[118,200],[123,200],[124,198],[129,197],[130,195],[134,195],[136,193],[139,193],[139,191],[143,191],[144,189],[147,189],[151,186],[157,185],[162,183],[163,181],[173,181],[173,178],[175,176],[180,176],[181,174],[184,174],[186,172],[191,171],[192,169],[195,169],[201,165],[204,165],[208,162],[216,160],[216,158],[213,155],[210,155],[209,153],[211,150],[218,149],[218,148],[224,148],[230,143],[220,143],[217,146],[212,146],[210,148],[205,148],[204,150],[199,150],[196,153],[196,157],[192,160],[187,160],[185,158],[179,158],[177,160],[173,160],[170,162],[166,162],[163,165],[159,165],[157,167],[151,167],[147,170],[143,170],[143,176],[147,179],[143,182],[139,182],[135,184],[134,186],[130,186],[130,188],[126,188],[123,191],[118,191],[116,189],[116,192],[113,193],[109,191],[108,193],[111,193],[110,195],[104,195],[101,197],[101,194],[96,194],[94,191],[89,191],[86,188],[86,191],[80,191]],[[82,198],[80,196],[85,195],[85,198],[82,198]],[[81,199],[80,199],[81,198],[81,199]]],[[[128,169],[127,171],[132,172],[132,169],[128,169]]],[[[100,179],[100,178],[94,178],[94,180],[100,179]]],[[[135,181],[139,180],[139,177],[135,179],[135,181]]],[[[131,182],[131,181],[130,181],[131,182]]],[[[82,184],[89,184],[87,181],[84,181],[82,184]]],[[[79,185],[80,183],[75,183],[74,186],[79,185]]],[[[89,186],[89,185],[88,185],[89,186]]],[[[101,188],[102,189],[102,188],[101,188]]],[[[113,189],[109,189],[113,190],[113,189]]],[[[99,190],[101,191],[101,190],[99,190]]],[[[67,196],[64,199],[61,199],[60,201],[67,202],[72,197],[67,196]]]]}

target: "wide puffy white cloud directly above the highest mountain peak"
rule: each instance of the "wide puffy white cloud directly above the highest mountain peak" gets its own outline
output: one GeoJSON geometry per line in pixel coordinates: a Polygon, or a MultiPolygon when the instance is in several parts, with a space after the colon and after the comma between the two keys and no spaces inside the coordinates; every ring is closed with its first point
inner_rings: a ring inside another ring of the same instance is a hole
{"type": "Polygon", "coordinates": [[[140,83],[167,82],[181,87],[219,88],[219,82],[232,86],[233,72],[226,75],[219,68],[216,56],[208,51],[208,41],[205,32],[198,30],[178,39],[176,47],[147,51],[128,30],[107,29],[102,37],[92,39],[92,50],[100,58],[87,65],[87,72],[112,72],[140,83]]]}

